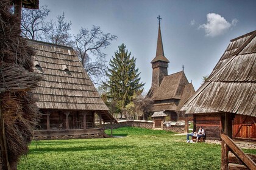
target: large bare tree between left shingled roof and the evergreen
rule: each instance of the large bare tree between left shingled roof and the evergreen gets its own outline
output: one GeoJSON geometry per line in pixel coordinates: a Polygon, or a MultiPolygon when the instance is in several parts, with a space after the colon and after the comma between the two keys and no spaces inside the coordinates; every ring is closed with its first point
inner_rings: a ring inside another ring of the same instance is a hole
{"type": "Polygon", "coordinates": [[[110,46],[110,41],[116,38],[117,36],[110,33],[103,33],[101,27],[95,25],[91,30],[82,27],[74,36],[74,48],[94,84],[102,82],[101,77],[104,77],[107,69],[105,66],[107,55],[102,52],[102,49],[110,46]]]}

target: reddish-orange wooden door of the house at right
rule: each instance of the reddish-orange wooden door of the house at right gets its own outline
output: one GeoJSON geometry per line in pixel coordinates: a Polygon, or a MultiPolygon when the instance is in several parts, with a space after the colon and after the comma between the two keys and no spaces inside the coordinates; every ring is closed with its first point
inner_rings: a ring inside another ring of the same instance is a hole
{"type": "Polygon", "coordinates": [[[233,138],[256,140],[256,118],[235,115],[233,120],[233,138]]]}

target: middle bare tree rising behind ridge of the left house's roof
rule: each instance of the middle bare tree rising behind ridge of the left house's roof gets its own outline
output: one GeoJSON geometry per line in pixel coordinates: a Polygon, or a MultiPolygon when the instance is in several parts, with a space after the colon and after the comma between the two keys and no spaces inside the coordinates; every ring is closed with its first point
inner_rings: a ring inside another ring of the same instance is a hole
{"type": "Polygon", "coordinates": [[[45,35],[46,40],[53,44],[59,44],[63,46],[72,45],[72,35],[69,33],[71,30],[71,21],[65,21],[65,13],[57,16],[57,22],[52,24],[52,29],[45,35]]]}

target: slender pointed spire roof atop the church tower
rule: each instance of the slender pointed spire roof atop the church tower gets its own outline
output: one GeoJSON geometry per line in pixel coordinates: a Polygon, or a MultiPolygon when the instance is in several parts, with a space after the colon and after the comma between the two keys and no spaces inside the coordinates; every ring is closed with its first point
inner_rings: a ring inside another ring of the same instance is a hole
{"type": "Polygon", "coordinates": [[[165,57],[165,53],[163,52],[163,41],[160,24],[158,27],[157,53],[155,55],[155,58],[151,61],[151,63],[154,63],[155,61],[165,61],[166,63],[169,63],[169,60],[165,57]]]}

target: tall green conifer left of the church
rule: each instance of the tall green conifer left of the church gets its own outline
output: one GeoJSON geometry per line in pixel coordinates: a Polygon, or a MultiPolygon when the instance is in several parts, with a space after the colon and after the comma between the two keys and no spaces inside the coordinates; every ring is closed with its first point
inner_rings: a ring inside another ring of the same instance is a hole
{"type": "Polygon", "coordinates": [[[104,85],[108,89],[109,100],[117,102],[118,109],[124,110],[132,101],[133,94],[143,91],[144,83],[140,83],[140,73],[135,68],[136,59],[130,56],[124,44],[118,49],[110,60],[110,68],[106,72],[108,80],[104,85]]]}

